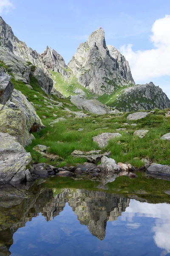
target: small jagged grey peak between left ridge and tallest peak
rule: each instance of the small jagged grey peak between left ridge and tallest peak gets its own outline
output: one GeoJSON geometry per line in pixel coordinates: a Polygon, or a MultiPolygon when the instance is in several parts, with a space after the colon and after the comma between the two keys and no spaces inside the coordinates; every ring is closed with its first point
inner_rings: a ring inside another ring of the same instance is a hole
{"type": "Polygon", "coordinates": [[[51,47],[46,47],[45,51],[41,54],[43,63],[45,66],[52,71],[61,73],[66,76],[65,69],[67,68],[62,56],[51,47]]]}

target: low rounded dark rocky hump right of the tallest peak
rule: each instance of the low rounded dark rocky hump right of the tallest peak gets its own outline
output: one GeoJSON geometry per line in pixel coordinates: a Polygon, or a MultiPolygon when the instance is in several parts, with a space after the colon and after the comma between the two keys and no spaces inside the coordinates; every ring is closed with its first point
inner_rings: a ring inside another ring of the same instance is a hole
{"type": "Polygon", "coordinates": [[[159,86],[152,82],[149,84],[136,84],[123,89],[117,96],[113,105],[119,111],[150,110],[154,108],[170,108],[170,99],[159,86]]]}

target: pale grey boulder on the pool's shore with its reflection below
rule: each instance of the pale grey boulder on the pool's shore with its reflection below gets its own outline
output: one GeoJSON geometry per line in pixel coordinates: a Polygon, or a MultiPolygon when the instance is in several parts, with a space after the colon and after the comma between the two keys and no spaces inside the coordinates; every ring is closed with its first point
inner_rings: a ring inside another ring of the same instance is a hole
{"type": "Polygon", "coordinates": [[[119,172],[121,172],[121,168],[116,164],[116,161],[105,156],[102,157],[100,170],[102,183],[104,184],[113,182],[117,177],[119,177],[119,172]]]}

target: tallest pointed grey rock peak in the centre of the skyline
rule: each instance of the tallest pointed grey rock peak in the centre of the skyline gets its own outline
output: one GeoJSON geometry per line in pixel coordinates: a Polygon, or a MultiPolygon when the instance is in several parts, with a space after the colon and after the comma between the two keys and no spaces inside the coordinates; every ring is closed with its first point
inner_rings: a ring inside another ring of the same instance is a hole
{"type": "Polygon", "coordinates": [[[80,84],[99,95],[109,94],[118,86],[134,84],[128,62],[114,47],[106,45],[102,28],[79,45],[68,67],[80,84]]]}

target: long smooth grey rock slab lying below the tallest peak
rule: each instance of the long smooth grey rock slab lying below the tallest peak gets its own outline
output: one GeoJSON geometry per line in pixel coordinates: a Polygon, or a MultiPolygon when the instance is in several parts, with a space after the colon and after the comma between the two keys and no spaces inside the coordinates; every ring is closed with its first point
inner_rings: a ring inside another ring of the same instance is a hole
{"type": "Polygon", "coordinates": [[[96,99],[82,99],[78,96],[71,96],[70,101],[79,109],[84,109],[97,115],[103,115],[111,111],[110,108],[108,108],[106,105],[102,104],[96,99]]]}

